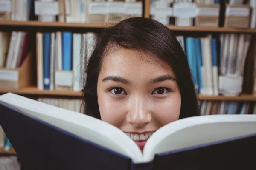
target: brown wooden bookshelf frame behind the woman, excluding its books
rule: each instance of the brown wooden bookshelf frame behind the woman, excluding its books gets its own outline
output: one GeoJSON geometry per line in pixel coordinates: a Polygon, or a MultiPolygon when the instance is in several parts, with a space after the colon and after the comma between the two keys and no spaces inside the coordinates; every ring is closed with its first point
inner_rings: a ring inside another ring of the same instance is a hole
{"type": "MultiPolygon", "coordinates": [[[[150,0],[142,0],[143,2],[143,17],[150,17],[150,0]]],[[[11,20],[0,20],[0,31],[31,31],[33,42],[36,42],[35,34],[36,32],[56,32],[56,31],[71,31],[71,32],[98,32],[102,28],[108,26],[113,26],[115,23],[112,22],[102,22],[102,23],[65,23],[65,22],[40,22],[40,21],[11,21],[11,20]]],[[[224,33],[234,33],[234,34],[250,34],[252,35],[252,40],[255,39],[256,29],[250,28],[225,28],[225,27],[198,27],[198,26],[174,26],[166,25],[167,28],[172,30],[174,33],[186,34],[191,36],[198,36],[198,34],[215,34],[220,35],[224,33]]],[[[255,44],[256,41],[251,41],[252,44],[255,44]]],[[[255,48],[253,45],[250,45],[249,54],[247,56],[247,61],[245,65],[247,66],[246,71],[244,72],[244,94],[241,96],[210,96],[198,94],[199,100],[205,101],[214,101],[214,102],[256,102],[256,95],[247,91],[248,85],[250,85],[250,79],[252,79],[252,67],[251,63],[254,62],[253,55],[255,53],[255,48]],[[249,67],[248,67],[249,66],[249,67]],[[246,94],[245,94],[246,93],[246,94]]],[[[255,45],[254,45],[255,46],[255,45]]],[[[33,51],[33,64],[34,69],[37,69],[35,64],[36,60],[36,45],[35,43],[31,44],[33,51]]],[[[36,76],[31,76],[29,79],[33,79],[33,82],[36,82],[36,76]]],[[[38,90],[37,85],[34,83],[26,87],[19,89],[11,88],[0,88],[0,94],[12,92],[20,95],[28,95],[33,98],[72,98],[72,99],[82,99],[81,91],[72,91],[72,90],[38,90]]],[[[249,104],[248,104],[249,105],[249,104]]],[[[249,107],[248,107],[249,108],[249,107]]],[[[250,111],[253,109],[250,108],[250,111]]],[[[0,155],[16,155],[16,152],[13,148],[9,152],[3,150],[0,147],[0,155]]]]}

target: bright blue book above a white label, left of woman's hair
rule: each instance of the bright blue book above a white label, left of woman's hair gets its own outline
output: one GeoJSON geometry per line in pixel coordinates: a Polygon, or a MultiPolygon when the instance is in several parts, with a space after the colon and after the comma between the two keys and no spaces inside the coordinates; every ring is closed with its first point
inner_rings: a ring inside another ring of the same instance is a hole
{"type": "Polygon", "coordinates": [[[62,69],[72,70],[72,32],[62,34],[62,69]]]}

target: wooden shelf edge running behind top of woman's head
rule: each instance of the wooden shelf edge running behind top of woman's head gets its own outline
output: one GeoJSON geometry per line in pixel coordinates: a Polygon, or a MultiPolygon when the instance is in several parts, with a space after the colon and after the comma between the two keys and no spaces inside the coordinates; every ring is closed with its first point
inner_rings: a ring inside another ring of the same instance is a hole
{"type": "MultiPolygon", "coordinates": [[[[113,26],[114,23],[61,23],[61,22],[39,22],[39,21],[0,21],[0,26],[25,26],[25,27],[69,27],[69,28],[105,28],[113,26]]],[[[173,31],[195,31],[195,32],[233,32],[233,33],[256,33],[256,29],[240,28],[212,28],[196,26],[171,26],[173,31]]]]}

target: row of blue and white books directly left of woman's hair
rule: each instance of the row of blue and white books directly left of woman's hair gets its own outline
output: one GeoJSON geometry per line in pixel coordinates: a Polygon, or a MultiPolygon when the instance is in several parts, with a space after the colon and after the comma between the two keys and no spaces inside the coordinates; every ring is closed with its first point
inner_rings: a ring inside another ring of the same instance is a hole
{"type": "Polygon", "coordinates": [[[85,66],[96,40],[97,34],[91,32],[38,32],[38,89],[80,91],[85,84],[85,66]]]}

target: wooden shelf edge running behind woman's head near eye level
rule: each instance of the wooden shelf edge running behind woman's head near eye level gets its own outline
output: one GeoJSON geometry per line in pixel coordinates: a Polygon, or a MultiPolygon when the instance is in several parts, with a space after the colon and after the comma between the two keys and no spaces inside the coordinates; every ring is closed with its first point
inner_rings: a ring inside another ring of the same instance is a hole
{"type": "MultiPolygon", "coordinates": [[[[4,93],[15,93],[15,94],[26,94],[26,95],[45,95],[45,96],[75,96],[75,97],[81,97],[82,93],[81,91],[64,91],[64,90],[38,90],[37,87],[26,87],[22,89],[0,89],[0,94],[4,93]]],[[[243,94],[241,96],[209,96],[209,95],[198,95],[199,99],[201,100],[225,100],[225,101],[255,101],[256,102],[256,96],[249,95],[249,94],[243,94]]]]}

